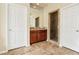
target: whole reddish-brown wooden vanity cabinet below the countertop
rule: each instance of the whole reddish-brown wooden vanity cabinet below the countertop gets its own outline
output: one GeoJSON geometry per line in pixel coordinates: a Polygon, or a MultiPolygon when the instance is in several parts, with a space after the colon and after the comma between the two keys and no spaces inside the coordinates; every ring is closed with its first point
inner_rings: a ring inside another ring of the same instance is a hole
{"type": "Polygon", "coordinates": [[[47,30],[31,30],[30,44],[45,41],[47,39],[47,30]]]}

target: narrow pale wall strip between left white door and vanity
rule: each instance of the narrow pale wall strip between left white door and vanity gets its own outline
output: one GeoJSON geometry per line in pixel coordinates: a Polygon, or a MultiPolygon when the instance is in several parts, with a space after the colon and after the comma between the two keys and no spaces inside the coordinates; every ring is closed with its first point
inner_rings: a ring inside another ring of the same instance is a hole
{"type": "Polygon", "coordinates": [[[30,46],[30,4],[29,3],[21,3],[20,5],[26,6],[27,8],[27,20],[26,20],[26,25],[27,25],[27,47],[30,46]]]}

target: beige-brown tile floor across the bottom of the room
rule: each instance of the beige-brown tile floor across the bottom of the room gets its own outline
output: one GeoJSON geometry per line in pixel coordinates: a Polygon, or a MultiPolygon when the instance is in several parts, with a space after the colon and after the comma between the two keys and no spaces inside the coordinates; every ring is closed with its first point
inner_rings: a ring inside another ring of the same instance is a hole
{"type": "Polygon", "coordinates": [[[30,47],[10,50],[2,55],[79,55],[79,53],[67,48],[60,48],[55,43],[43,41],[32,44],[30,47]]]}

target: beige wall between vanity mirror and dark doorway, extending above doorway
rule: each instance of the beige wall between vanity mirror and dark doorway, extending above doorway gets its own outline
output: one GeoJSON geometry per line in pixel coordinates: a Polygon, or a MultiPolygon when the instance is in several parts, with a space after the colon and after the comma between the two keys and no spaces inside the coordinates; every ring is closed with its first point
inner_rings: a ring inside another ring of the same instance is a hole
{"type": "Polygon", "coordinates": [[[45,8],[44,8],[44,21],[43,21],[43,25],[48,29],[48,37],[47,37],[47,39],[48,40],[50,40],[50,35],[49,35],[49,25],[48,25],[48,23],[49,23],[49,13],[50,12],[53,12],[53,11],[55,11],[55,10],[58,10],[58,9],[61,9],[62,7],[64,7],[64,6],[66,6],[66,5],[68,5],[68,3],[50,3],[50,4],[48,4],[48,6],[46,6],[45,8]]]}

